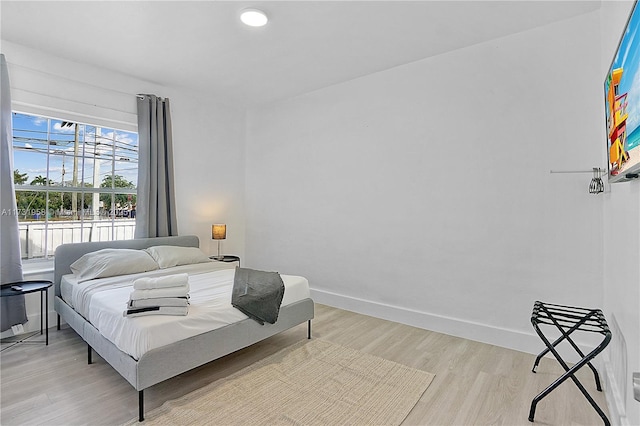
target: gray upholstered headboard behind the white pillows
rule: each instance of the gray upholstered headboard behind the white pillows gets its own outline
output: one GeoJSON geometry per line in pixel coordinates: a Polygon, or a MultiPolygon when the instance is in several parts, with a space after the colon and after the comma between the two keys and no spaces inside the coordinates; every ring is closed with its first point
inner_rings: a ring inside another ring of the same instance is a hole
{"type": "Polygon", "coordinates": [[[63,275],[71,273],[71,268],[69,268],[69,266],[82,257],[82,255],[105,248],[145,249],[153,246],[200,247],[200,241],[195,235],[185,235],[180,237],[140,238],[137,240],[62,244],[56,248],[54,257],[53,283],[56,289],[56,296],[60,296],[60,279],[63,275]]]}

